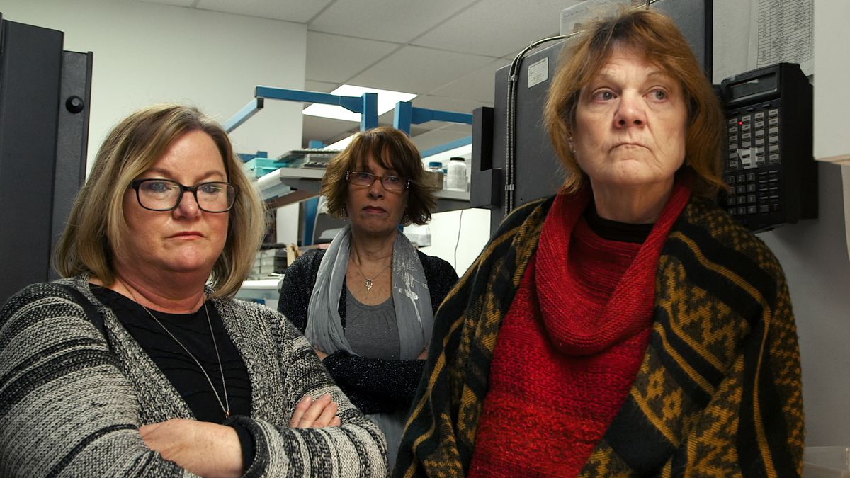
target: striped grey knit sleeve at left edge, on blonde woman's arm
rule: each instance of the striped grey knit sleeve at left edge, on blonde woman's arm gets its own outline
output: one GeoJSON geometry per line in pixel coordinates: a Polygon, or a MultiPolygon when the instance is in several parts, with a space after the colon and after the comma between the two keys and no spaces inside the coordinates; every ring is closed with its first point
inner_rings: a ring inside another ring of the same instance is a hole
{"type": "Polygon", "coordinates": [[[54,284],[0,310],[0,475],[183,476],[146,447],[105,337],[54,284]]]}

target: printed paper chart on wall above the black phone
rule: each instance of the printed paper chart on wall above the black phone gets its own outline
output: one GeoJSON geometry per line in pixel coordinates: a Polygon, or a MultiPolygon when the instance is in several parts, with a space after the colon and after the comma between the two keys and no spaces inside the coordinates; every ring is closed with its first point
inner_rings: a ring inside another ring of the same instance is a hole
{"type": "Polygon", "coordinates": [[[748,69],[787,61],[814,73],[814,0],[753,0],[748,69]]]}

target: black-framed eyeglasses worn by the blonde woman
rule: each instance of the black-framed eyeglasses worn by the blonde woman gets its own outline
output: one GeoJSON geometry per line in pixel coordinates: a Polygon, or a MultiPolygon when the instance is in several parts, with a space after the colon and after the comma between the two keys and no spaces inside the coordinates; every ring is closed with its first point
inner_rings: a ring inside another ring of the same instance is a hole
{"type": "Polygon", "coordinates": [[[171,211],[190,191],[198,208],[207,213],[226,213],[233,208],[239,188],[230,183],[211,181],[200,185],[181,185],[172,179],[133,179],[127,189],[136,190],[139,206],[151,211],[171,211]]]}

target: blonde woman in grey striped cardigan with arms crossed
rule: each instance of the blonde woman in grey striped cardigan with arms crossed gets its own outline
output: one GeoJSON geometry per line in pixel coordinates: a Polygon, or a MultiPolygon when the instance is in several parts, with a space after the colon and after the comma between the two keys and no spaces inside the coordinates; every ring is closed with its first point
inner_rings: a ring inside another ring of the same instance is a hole
{"type": "Polygon", "coordinates": [[[283,316],[233,299],[263,203],[224,129],[153,105],[101,146],[0,310],[0,475],[382,476],[380,430],[283,316]]]}

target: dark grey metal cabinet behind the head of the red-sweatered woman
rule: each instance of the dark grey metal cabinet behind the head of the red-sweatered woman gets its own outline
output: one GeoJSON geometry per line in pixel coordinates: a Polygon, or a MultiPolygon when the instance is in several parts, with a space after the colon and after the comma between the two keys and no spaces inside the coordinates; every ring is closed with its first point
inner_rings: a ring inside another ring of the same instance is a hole
{"type": "MultiPolygon", "coordinates": [[[[694,49],[711,80],[712,0],[657,0],[650,4],[672,18],[694,49]]],[[[543,105],[549,83],[558,66],[564,40],[532,50],[519,67],[515,107],[515,153],[513,208],[551,196],[564,182],[564,171],[543,126],[543,105]],[[529,65],[548,60],[547,80],[529,88],[529,65]]],[[[505,204],[507,178],[507,76],[511,65],[496,71],[494,108],[473,111],[473,156],[470,206],[490,208],[492,234],[508,212],[505,204]]]]}

